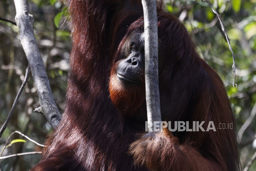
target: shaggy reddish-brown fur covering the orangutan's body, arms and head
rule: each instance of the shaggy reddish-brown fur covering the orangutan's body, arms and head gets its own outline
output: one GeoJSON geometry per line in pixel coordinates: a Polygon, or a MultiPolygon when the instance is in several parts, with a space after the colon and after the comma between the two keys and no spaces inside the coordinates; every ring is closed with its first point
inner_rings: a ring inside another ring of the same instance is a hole
{"type": "Polygon", "coordinates": [[[139,18],[141,4],[132,2],[135,10],[123,1],[69,1],[73,47],[66,107],[60,125],[47,138],[42,160],[32,171],[239,170],[235,121],[225,87],[196,53],[184,25],[164,13],[161,3],[159,44],[165,49],[164,55],[159,54],[162,118],[189,121],[190,125],[192,121],[213,121],[216,127],[233,122],[233,129],[164,129],[136,138],[145,129],[145,85],[127,88],[115,77],[127,36],[144,27],[139,18]],[[162,98],[165,96],[168,98],[162,98]]]}

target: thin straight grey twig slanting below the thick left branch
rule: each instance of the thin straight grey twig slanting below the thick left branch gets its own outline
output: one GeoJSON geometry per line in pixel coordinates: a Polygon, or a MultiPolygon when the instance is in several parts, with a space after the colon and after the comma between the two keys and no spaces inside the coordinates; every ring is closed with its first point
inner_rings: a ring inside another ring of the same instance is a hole
{"type": "Polygon", "coordinates": [[[10,113],[8,114],[8,117],[6,118],[6,120],[5,120],[5,122],[4,122],[3,126],[2,126],[2,128],[0,129],[0,138],[2,137],[2,134],[3,134],[4,130],[6,129],[6,126],[8,125],[8,123],[9,123],[11,117],[12,117],[14,108],[15,108],[15,106],[17,105],[17,102],[18,102],[18,100],[19,100],[19,97],[20,97],[20,95],[21,95],[21,93],[22,93],[22,91],[23,91],[23,88],[24,88],[25,85],[27,84],[27,80],[28,80],[28,78],[29,78],[29,71],[30,71],[30,67],[28,66],[27,69],[26,69],[25,79],[23,80],[22,85],[21,85],[21,87],[19,88],[19,92],[18,92],[17,96],[15,97],[15,100],[14,100],[13,105],[12,105],[12,107],[11,107],[10,113]]]}

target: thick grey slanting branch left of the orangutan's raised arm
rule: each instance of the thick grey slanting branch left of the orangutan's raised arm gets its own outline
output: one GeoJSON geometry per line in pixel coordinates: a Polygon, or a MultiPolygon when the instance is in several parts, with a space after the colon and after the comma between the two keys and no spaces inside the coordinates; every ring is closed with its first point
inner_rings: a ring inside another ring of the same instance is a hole
{"type": "Polygon", "coordinates": [[[55,129],[61,120],[61,114],[52,96],[52,90],[43,60],[35,41],[33,22],[27,0],[14,0],[16,8],[15,21],[19,27],[20,41],[26,53],[35,87],[40,100],[40,108],[49,121],[52,129],[55,129]]]}

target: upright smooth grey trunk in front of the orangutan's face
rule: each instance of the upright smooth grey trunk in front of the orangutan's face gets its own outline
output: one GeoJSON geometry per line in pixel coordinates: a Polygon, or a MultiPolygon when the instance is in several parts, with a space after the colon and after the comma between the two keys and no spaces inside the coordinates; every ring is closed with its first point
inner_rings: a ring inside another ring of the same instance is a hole
{"type": "MultiPolygon", "coordinates": [[[[145,36],[145,84],[148,132],[154,131],[154,121],[161,121],[158,78],[158,28],[155,0],[142,0],[145,36]]],[[[161,126],[161,124],[160,124],[161,126]]],[[[155,131],[159,131],[155,130],[155,131]]]]}

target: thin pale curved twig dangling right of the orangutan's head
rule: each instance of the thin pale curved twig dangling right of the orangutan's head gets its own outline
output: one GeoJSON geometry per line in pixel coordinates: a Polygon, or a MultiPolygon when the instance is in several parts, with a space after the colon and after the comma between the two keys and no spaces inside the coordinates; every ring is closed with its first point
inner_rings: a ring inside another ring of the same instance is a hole
{"type": "Polygon", "coordinates": [[[203,0],[205,2],[207,2],[211,7],[212,7],[212,10],[213,12],[217,15],[217,17],[219,18],[219,21],[221,23],[221,30],[223,31],[223,33],[225,34],[226,36],[226,40],[229,44],[229,50],[231,51],[232,53],[232,58],[233,58],[233,65],[232,65],[232,68],[233,68],[233,73],[234,73],[234,81],[233,81],[233,87],[234,85],[236,85],[236,88],[237,88],[237,84],[235,84],[235,81],[236,81],[236,65],[235,65],[235,54],[233,53],[233,50],[232,50],[232,47],[230,45],[230,41],[229,41],[229,37],[228,37],[228,34],[223,26],[223,22],[222,22],[222,19],[221,19],[221,16],[218,14],[218,12],[213,8],[213,4],[209,1],[209,0],[203,0]]]}

